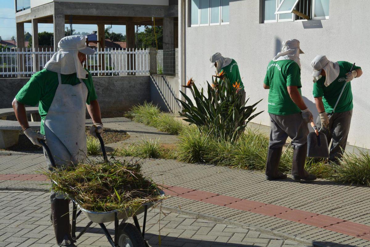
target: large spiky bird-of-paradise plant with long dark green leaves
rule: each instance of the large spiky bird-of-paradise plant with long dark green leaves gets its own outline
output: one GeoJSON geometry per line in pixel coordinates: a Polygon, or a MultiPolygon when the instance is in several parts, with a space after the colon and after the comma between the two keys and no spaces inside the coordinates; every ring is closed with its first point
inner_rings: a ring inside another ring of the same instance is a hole
{"type": "Polygon", "coordinates": [[[192,78],[183,86],[189,88],[193,101],[184,92],[180,91],[185,101],[177,99],[183,106],[179,112],[186,122],[199,127],[201,132],[207,132],[213,138],[234,142],[240,133],[243,133],[248,122],[261,112],[256,111],[257,103],[245,106],[241,102],[242,94],[238,94],[240,84],[231,85],[227,78],[219,76],[213,79],[212,85],[207,82],[207,91],[198,90],[192,78]]]}

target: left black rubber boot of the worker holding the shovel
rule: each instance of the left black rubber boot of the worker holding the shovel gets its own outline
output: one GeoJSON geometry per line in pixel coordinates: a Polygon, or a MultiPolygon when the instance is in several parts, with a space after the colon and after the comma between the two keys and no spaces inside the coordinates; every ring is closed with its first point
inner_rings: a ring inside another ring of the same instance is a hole
{"type": "Polygon", "coordinates": [[[286,179],[286,174],[279,171],[279,162],[283,147],[269,148],[266,162],[266,180],[286,179]]]}

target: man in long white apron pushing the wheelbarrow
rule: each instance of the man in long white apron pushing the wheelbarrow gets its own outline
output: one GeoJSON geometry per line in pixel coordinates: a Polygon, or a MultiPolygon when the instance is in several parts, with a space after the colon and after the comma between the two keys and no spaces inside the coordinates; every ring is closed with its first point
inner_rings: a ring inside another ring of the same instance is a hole
{"type": "MultiPolygon", "coordinates": [[[[24,134],[35,145],[41,146],[40,140],[46,140],[53,159],[45,149],[44,154],[49,169],[55,172],[86,158],[86,105],[94,122],[90,134],[97,137],[97,133],[103,131],[91,74],[82,65],[86,55],[95,51],[86,47],[86,39],[82,35],[62,38],[58,48],[44,70],[34,74],[13,100],[14,112],[24,134]],[[29,127],[25,109],[25,105],[37,104],[41,115],[39,133],[29,127]]],[[[75,246],[70,230],[69,200],[64,194],[51,191],[50,201],[50,217],[57,244],[75,246]]]]}

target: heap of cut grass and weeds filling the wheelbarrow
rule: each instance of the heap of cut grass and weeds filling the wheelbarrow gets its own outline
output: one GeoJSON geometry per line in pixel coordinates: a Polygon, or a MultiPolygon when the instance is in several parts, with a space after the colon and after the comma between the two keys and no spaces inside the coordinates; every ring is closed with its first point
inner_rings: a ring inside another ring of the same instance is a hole
{"type": "Polygon", "coordinates": [[[157,185],[142,175],[139,162],[90,162],[44,174],[56,182],[55,192],[66,193],[94,212],[128,208],[135,212],[144,203],[162,199],[157,185]]]}

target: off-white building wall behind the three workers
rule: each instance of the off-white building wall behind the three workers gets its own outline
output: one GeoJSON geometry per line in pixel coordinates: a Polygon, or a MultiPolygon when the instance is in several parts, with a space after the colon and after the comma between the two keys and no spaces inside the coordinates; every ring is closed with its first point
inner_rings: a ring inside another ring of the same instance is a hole
{"type": "MultiPolygon", "coordinates": [[[[302,64],[302,95],[307,106],[317,116],[312,96],[311,61],[316,55],[326,55],[332,61],[356,62],[363,70],[352,82],[353,116],[348,142],[350,145],[370,148],[370,3],[369,0],[330,0],[329,20],[259,23],[260,0],[230,0],[230,24],[190,27],[186,21],[186,77],[204,86],[211,80],[214,69],[209,69],[209,57],[220,52],[234,58],[239,65],[250,104],[263,98],[257,111],[264,112],[252,122],[270,126],[267,112],[268,90],[262,88],[266,67],[280,51],[284,40],[300,40],[302,64]],[[351,1],[352,2],[352,1],[351,1]],[[320,28],[305,28],[311,24],[320,28]]],[[[189,18],[189,1],[186,18],[189,18]]],[[[190,93],[188,91],[188,95],[190,93]]]]}

